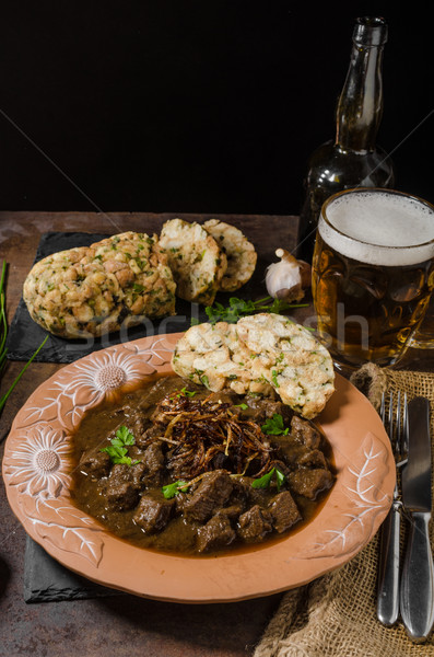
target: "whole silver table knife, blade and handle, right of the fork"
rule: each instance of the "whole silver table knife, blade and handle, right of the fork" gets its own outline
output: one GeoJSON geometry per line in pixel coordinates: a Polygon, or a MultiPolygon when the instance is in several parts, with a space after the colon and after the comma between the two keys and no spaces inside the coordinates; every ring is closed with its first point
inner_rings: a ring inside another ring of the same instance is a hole
{"type": "Polygon", "coordinates": [[[434,566],[429,523],[432,510],[430,402],[418,396],[408,405],[408,463],[402,471],[402,503],[410,520],[400,611],[412,641],[424,641],[434,624],[434,566]]]}

